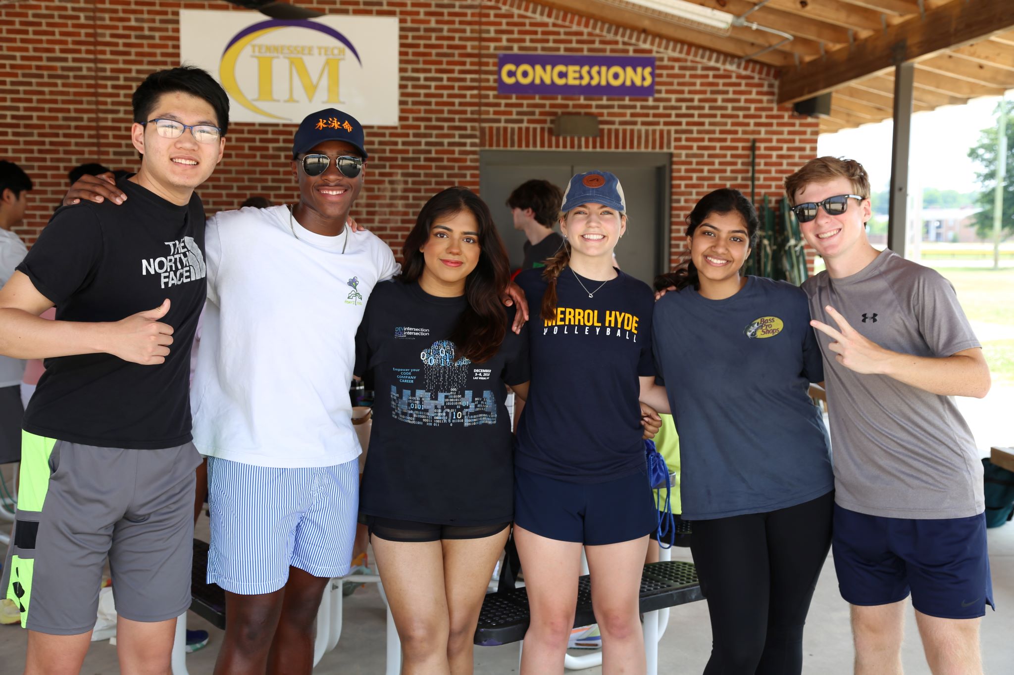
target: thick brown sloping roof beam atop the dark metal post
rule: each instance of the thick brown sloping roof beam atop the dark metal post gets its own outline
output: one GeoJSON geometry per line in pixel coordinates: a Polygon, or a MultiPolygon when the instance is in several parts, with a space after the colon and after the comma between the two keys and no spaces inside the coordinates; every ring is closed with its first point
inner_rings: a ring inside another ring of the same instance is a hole
{"type": "MultiPolygon", "coordinates": [[[[850,48],[836,50],[784,72],[779,81],[778,102],[811,98],[889,69],[900,61],[960,47],[1012,25],[1014,2],[959,0],[941,5],[927,11],[925,18],[914,16],[850,48]]],[[[971,95],[987,95],[987,92],[971,95]]]]}

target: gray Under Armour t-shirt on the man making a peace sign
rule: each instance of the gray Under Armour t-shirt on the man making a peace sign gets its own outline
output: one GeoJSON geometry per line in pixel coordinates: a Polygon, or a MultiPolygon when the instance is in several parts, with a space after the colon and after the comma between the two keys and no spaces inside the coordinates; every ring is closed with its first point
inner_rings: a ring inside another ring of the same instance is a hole
{"type": "MultiPolygon", "coordinates": [[[[803,283],[810,314],[836,326],[830,305],[873,342],[917,356],[981,346],[950,282],[885,250],[862,271],[803,283]]],[[[982,513],[983,465],[952,397],[839,363],[823,333],[835,501],[892,518],[964,518],[982,513]]]]}

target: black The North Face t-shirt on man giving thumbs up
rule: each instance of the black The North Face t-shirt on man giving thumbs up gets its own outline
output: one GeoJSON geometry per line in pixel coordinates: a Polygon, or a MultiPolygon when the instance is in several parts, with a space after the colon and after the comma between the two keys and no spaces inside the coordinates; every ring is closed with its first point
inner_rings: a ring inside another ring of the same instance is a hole
{"type": "Polygon", "coordinates": [[[204,206],[176,205],[125,178],[123,205],[84,201],[54,214],[17,269],[57,321],[112,322],[153,310],[173,328],[159,365],[112,354],[46,359],[25,430],[99,447],[157,449],[191,440],[190,355],[207,294],[204,206]]]}

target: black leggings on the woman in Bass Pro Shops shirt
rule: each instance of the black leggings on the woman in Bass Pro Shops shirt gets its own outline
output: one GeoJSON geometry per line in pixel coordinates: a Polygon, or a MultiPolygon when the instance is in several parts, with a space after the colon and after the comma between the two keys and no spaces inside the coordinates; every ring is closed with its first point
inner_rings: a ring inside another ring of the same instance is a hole
{"type": "Polygon", "coordinates": [[[695,520],[711,614],[704,675],[800,675],[803,624],[830,546],[834,491],[768,513],[695,520]]]}

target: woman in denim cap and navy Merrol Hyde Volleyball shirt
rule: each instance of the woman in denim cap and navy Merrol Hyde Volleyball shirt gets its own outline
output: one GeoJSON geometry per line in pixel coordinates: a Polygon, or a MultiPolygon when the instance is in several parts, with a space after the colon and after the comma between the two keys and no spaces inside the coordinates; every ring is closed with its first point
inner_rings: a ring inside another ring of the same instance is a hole
{"type": "Polygon", "coordinates": [[[531,608],[521,672],[563,672],[582,545],[602,671],[643,672],[638,591],[656,511],[638,400],[667,406],[654,385],[653,296],[612,264],[627,230],[614,175],[574,176],[561,210],[565,246],[516,279],[541,308],[529,326],[530,388],[515,388],[529,404],[514,457],[514,537],[531,608]]]}

